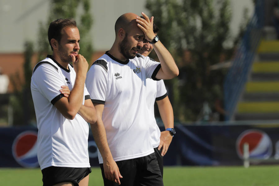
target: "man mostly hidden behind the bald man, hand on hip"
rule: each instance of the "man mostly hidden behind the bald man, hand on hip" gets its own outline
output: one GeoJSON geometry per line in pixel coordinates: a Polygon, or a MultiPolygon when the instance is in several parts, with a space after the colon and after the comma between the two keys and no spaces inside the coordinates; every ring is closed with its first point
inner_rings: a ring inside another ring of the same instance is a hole
{"type": "MultiPolygon", "coordinates": [[[[140,16],[144,19],[143,16],[140,16]]],[[[159,28],[153,23],[153,32],[157,35],[159,28]]],[[[143,47],[139,50],[139,54],[148,57],[153,50],[153,45],[144,40],[143,47]]],[[[149,58],[149,57],[148,57],[149,58]]],[[[152,58],[149,58],[153,60],[152,58]]],[[[163,176],[163,156],[168,151],[172,137],[175,134],[173,109],[167,95],[166,86],[164,81],[154,81],[153,79],[146,79],[146,104],[148,113],[150,114],[150,135],[151,143],[155,151],[158,165],[163,176]],[[160,116],[164,123],[166,131],[160,131],[154,116],[154,102],[158,105],[160,116]]]]}

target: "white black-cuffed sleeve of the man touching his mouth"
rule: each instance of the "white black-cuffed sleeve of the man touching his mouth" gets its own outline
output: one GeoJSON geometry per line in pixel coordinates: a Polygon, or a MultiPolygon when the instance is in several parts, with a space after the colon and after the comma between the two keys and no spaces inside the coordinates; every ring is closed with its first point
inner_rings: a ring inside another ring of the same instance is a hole
{"type": "Polygon", "coordinates": [[[52,104],[63,97],[60,89],[62,85],[65,85],[65,80],[53,66],[40,65],[33,73],[32,78],[38,91],[52,104]]]}

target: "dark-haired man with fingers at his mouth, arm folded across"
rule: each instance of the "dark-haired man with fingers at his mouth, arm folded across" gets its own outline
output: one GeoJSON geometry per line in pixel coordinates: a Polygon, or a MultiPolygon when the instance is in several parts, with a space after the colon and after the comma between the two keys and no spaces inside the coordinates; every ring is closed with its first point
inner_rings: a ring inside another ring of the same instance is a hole
{"type": "Polygon", "coordinates": [[[43,185],[87,186],[91,172],[87,122],[94,124],[97,117],[85,87],[88,63],[78,54],[76,21],[51,22],[48,40],[53,53],[36,64],[31,78],[43,185]]]}

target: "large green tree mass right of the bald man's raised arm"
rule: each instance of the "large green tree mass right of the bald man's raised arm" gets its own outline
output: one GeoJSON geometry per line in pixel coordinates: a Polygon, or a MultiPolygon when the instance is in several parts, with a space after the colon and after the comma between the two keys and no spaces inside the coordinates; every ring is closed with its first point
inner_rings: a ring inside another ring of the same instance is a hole
{"type": "Polygon", "coordinates": [[[160,28],[160,40],[179,65],[179,77],[165,81],[172,90],[175,118],[196,121],[203,103],[214,109],[215,100],[222,100],[226,70],[212,71],[210,66],[222,56],[232,57],[234,46],[225,47],[235,39],[230,36],[229,1],[147,0],[146,8],[160,28]],[[185,59],[187,52],[190,59],[185,59]]]}

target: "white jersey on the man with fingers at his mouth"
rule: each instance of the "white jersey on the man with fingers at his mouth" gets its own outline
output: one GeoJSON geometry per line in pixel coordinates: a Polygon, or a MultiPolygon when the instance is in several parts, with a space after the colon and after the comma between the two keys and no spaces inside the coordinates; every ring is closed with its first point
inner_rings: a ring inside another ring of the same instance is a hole
{"type": "MultiPolygon", "coordinates": [[[[77,114],[66,119],[54,106],[63,97],[62,85],[73,89],[76,73],[71,65],[63,68],[51,58],[39,62],[31,78],[31,93],[38,126],[38,162],[41,169],[49,166],[90,167],[87,122],[77,114]]],[[[90,99],[84,87],[83,102],[90,99]]]]}

